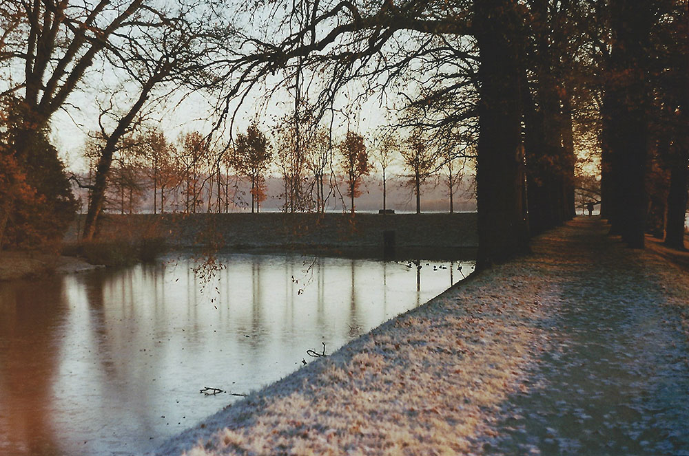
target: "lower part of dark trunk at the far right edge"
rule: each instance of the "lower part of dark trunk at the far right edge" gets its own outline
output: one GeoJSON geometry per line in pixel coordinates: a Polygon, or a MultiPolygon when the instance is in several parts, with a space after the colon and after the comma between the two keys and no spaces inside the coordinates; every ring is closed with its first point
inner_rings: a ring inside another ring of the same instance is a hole
{"type": "Polygon", "coordinates": [[[687,188],[689,186],[689,151],[670,169],[670,192],[665,229],[665,245],[685,250],[684,224],[687,213],[687,188]]]}

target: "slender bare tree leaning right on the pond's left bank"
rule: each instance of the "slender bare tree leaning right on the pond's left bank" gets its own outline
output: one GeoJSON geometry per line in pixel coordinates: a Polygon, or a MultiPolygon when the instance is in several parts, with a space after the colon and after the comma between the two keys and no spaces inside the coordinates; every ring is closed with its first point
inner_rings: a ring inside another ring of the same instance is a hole
{"type": "MultiPolygon", "coordinates": [[[[209,54],[218,36],[209,30],[210,19],[194,3],[178,2],[161,8],[146,5],[132,21],[123,22],[125,30],[116,35],[119,41],[107,44],[109,52],[105,55],[110,67],[127,78],[124,84],[136,95],[124,103],[126,107],[109,106],[105,113],[110,122],[101,122],[106,144],[96,168],[84,239],[93,236],[118,143],[141,124],[148,110],[163,106],[174,89],[198,87],[205,84],[203,78],[212,79],[207,71],[209,54]]],[[[196,203],[196,193],[193,197],[196,203]]],[[[196,204],[193,207],[195,210],[196,204]]]]}

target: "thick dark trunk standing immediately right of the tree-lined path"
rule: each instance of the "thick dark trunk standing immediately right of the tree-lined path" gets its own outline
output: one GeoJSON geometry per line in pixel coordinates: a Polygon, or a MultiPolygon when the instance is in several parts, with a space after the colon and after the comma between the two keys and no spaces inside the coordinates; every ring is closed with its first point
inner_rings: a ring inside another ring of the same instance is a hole
{"type": "Polygon", "coordinates": [[[606,215],[611,234],[632,248],[644,247],[646,232],[646,166],[650,94],[647,56],[654,14],[648,2],[610,1],[610,77],[604,101],[604,169],[606,215]]]}

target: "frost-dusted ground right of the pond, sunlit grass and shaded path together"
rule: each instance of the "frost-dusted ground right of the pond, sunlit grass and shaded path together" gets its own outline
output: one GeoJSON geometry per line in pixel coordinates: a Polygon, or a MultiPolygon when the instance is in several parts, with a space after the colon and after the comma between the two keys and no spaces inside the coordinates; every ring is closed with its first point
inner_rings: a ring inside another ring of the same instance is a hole
{"type": "Polygon", "coordinates": [[[689,454],[689,274],[591,219],[533,248],[158,454],[689,454]]]}

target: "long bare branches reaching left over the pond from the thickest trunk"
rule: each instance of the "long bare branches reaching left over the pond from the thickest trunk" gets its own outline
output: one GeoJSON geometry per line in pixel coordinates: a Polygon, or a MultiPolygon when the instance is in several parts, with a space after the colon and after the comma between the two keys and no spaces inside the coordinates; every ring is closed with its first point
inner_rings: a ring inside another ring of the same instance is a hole
{"type": "Polygon", "coordinates": [[[475,79],[475,46],[468,36],[469,2],[255,2],[245,6],[252,20],[237,23],[228,55],[218,60],[225,90],[218,125],[238,113],[236,100],[266,80],[311,102],[318,120],[355,82],[358,93],[391,105],[424,89],[440,98],[466,91],[475,79]],[[297,87],[296,80],[302,83],[297,87]],[[463,81],[460,81],[460,78],[463,81]],[[452,83],[447,83],[451,80],[452,83]],[[442,90],[441,90],[442,88],[442,90]],[[410,90],[411,89],[411,90],[410,90]],[[302,93],[298,93],[302,91],[302,93]],[[436,91],[440,93],[435,94],[436,91]],[[234,106],[234,111],[233,111],[234,106]]]}

